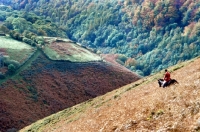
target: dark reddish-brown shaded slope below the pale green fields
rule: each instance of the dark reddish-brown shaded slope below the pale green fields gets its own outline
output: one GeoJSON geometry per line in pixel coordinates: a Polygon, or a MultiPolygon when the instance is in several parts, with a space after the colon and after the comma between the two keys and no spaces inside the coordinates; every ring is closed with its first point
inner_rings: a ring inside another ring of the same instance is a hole
{"type": "Polygon", "coordinates": [[[84,63],[51,60],[37,50],[13,75],[0,82],[0,131],[21,129],[139,78],[101,60],[84,63]]]}

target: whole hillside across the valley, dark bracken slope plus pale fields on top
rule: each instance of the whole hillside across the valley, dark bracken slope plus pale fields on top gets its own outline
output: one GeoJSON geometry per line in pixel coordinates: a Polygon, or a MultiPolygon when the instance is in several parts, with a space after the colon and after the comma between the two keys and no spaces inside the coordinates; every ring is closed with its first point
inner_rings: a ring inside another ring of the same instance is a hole
{"type": "Polygon", "coordinates": [[[35,49],[9,37],[0,37],[7,44],[0,44],[3,57],[7,58],[0,67],[0,72],[5,73],[0,79],[1,132],[19,130],[140,79],[130,70],[103,61],[99,55],[73,41],[55,37],[44,39],[45,44],[35,49]],[[45,47],[52,52],[45,52],[45,47]],[[52,54],[56,55],[53,59],[52,54]],[[21,63],[16,63],[18,61],[21,63]],[[11,74],[10,65],[14,64],[19,65],[11,74]]]}

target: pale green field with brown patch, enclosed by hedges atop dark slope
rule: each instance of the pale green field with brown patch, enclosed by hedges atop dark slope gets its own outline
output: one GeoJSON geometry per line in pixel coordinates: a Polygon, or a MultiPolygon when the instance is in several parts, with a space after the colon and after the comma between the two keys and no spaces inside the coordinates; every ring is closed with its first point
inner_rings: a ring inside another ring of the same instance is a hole
{"type": "Polygon", "coordinates": [[[56,42],[46,45],[44,53],[52,60],[67,60],[71,62],[100,61],[101,57],[72,42],[56,42]]]}

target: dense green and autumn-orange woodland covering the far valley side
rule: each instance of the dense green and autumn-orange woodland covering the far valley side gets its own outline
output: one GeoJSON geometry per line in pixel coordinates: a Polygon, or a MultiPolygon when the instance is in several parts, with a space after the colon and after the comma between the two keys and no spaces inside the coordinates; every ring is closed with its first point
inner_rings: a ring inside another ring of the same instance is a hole
{"type": "MultiPolygon", "coordinates": [[[[98,53],[123,54],[127,59],[120,63],[144,76],[200,55],[198,1],[0,2],[12,5],[1,6],[1,12],[6,13],[1,13],[0,20],[8,29],[22,34],[26,29],[36,35],[62,35],[98,53]],[[16,10],[21,15],[16,15],[16,10]]],[[[34,37],[27,38],[29,43],[34,41],[34,37]]]]}

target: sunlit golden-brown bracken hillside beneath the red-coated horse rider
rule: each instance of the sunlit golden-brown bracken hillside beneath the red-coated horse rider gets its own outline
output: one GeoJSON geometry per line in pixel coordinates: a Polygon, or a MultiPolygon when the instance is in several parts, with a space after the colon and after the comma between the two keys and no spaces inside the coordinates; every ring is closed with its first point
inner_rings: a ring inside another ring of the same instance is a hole
{"type": "Polygon", "coordinates": [[[20,132],[200,131],[200,58],[168,70],[179,84],[160,88],[163,71],[33,123],[20,132]]]}

